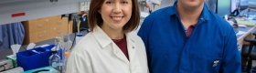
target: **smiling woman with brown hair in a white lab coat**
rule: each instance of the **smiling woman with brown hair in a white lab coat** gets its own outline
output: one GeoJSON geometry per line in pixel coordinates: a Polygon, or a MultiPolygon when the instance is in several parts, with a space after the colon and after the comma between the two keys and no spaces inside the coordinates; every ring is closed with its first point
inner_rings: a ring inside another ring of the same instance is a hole
{"type": "Polygon", "coordinates": [[[130,32],[140,22],[137,0],[91,0],[84,36],[69,56],[66,73],[147,73],[143,40],[130,32]]]}

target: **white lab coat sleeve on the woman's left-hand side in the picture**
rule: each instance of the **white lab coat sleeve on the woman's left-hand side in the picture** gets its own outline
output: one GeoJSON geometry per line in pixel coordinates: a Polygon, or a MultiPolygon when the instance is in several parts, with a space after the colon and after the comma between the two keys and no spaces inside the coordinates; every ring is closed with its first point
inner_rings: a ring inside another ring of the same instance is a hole
{"type": "Polygon", "coordinates": [[[66,73],[93,73],[93,71],[88,59],[82,57],[77,52],[71,52],[66,73]]]}

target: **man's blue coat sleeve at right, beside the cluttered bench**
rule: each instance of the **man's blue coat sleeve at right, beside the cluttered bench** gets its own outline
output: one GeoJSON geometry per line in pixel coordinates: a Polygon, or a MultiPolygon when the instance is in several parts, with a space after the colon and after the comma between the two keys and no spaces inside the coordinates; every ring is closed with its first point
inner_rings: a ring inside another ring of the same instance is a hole
{"type": "Polygon", "coordinates": [[[225,46],[223,51],[222,63],[219,73],[240,73],[241,58],[237,45],[237,36],[233,29],[225,38],[225,46]]]}

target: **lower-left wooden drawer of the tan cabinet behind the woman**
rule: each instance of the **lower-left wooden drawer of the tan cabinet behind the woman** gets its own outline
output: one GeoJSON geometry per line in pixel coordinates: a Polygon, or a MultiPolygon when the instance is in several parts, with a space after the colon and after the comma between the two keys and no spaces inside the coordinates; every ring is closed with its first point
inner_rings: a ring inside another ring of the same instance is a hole
{"type": "Polygon", "coordinates": [[[49,38],[49,29],[30,33],[29,37],[30,37],[30,42],[34,42],[34,43],[42,40],[46,40],[49,38]]]}

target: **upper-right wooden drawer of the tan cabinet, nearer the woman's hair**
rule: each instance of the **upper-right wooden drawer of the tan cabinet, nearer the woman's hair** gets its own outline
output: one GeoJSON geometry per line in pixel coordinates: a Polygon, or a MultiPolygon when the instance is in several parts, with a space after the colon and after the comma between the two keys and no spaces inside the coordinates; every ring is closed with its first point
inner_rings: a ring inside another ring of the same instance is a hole
{"type": "Polygon", "coordinates": [[[53,20],[53,23],[50,27],[68,26],[68,17],[63,17],[61,19],[61,16],[52,16],[51,20],[53,20]]]}

